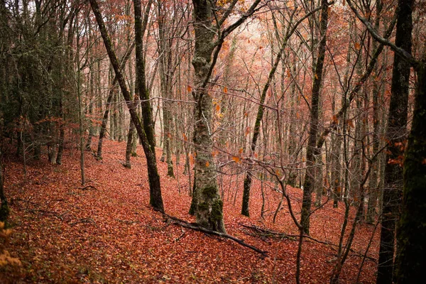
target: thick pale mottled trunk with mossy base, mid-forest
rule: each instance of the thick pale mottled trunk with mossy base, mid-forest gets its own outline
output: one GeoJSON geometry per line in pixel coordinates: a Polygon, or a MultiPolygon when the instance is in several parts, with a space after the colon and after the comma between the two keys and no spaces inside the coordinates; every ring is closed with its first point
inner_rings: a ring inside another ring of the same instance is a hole
{"type": "Polygon", "coordinates": [[[212,27],[212,3],[208,0],[193,0],[195,54],[192,66],[195,71],[195,89],[192,95],[195,107],[195,215],[197,223],[213,231],[225,232],[223,202],[219,195],[216,172],[212,157],[212,97],[204,87],[209,77],[214,50],[212,27]]]}

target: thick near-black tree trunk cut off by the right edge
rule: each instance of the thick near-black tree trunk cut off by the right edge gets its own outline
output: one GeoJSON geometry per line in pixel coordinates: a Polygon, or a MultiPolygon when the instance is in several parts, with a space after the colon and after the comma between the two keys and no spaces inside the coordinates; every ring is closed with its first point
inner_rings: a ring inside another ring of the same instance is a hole
{"type": "MultiPolygon", "coordinates": [[[[408,1],[408,5],[413,1],[408,1]]],[[[396,56],[396,55],[395,55],[396,56]]],[[[405,150],[403,204],[398,226],[396,282],[420,283],[426,267],[426,53],[417,70],[413,124],[405,150]]]]}

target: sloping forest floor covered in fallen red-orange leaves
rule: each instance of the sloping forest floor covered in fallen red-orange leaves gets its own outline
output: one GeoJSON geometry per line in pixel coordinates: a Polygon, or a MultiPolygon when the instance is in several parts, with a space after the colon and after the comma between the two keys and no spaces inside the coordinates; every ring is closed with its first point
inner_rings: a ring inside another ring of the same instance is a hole
{"type": "MultiPolygon", "coordinates": [[[[29,161],[26,180],[22,162],[6,157],[5,191],[13,226],[7,249],[22,266],[0,268],[0,283],[295,283],[297,239],[257,236],[241,226],[297,234],[285,203],[275,224],[272,222],[280,193],[264,187],[267,211],[261,219],[261,186],[254,182],[249,218],[239,214],[244,176],[225,177],[222,182],[227,233],[268,251],[263,258],[235,241],[165,221],[148,204],[142,148],[138,147],[138,157],[132,158],[128,169],[122,165],[126,143],[104,143],[103,160],[87,152],[86,185],[92,187],[84,189],[76,150],[65,153],[62,165],[50,165],[44,156],[29,161]]],[[[165,212],[194,222],[187,214],[191,197],[183,165],[178,169],[175,165],[178,178],[166,176],[166,163],[158,161],[158,168],[165,212]]],[[[295,212],[300,212],[302,191],[291,188],[289,192],[295,212]]],[[[311,236],[338,244],[343,219],[344,204],[334,209],[327,202],[312,216],[311,236]]],[[[357,226],[352,247],[356,253],[349,253],[340,283],[356,283],[361,255],[374,228],[364,223],[357,226]]],[[[373,236],[359,283],[375,283],[378,233],[376,230],[373,236]]],[[[328,283],[336,256],[335,246],[304,241],[301,283],[328,283]]]]}

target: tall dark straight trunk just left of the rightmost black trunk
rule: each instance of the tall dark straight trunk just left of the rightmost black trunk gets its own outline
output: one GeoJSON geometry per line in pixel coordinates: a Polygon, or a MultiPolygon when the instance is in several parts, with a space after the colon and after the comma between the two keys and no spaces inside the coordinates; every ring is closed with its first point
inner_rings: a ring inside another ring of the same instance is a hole
{"type": "MultiPolygon", "coordinates": [[[[411,53],[413,30],[413,0],[398,0],[395,45],[411,53]]],[[[410,63],[395,54],[393,59],[391,104],[386,131],[385,185],[381,218],[380,251],[378,254],[378,284],[393,283],[393,255],[395,253],[395,226],[399,218],[399,204],[403,187],[403,143],[408,116],[408,87],[410,63]]]]}

